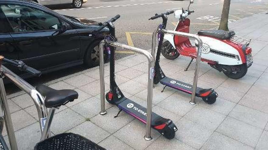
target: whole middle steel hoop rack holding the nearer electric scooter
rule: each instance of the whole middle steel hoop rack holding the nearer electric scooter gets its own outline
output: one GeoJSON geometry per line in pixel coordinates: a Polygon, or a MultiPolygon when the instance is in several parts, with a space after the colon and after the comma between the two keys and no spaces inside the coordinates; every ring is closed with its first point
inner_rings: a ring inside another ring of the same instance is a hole
{"type": "MultiPolygon", "coordinates": [[[[105,111],[105,104],[104,104],[104,57],[103,57],[103,50],[104,50],[105,42],[104,40],[101,41],[99,48],[100,48],[100,82],[101,82],[101,112],[106,113],[105,111]]],[[[147,118],[146,118],[146,135],[144,138],[146,140],[152,139],[151,136],[151,117],[152,117],[152,102],[153,102],[153,75],[154,75],[154,59],[153,56],[146,50],[132,47],[129,45],[121,44],[118,42],[110,42],[108,45],[113,47],[121,47],[128,49],[130,51],[134,51],[136,53],[145,55],[149,62],[148,67],[148,91],[147,91],[147,118]]],[[[104,114],[105,114],[104,113],[104,114]]]]}

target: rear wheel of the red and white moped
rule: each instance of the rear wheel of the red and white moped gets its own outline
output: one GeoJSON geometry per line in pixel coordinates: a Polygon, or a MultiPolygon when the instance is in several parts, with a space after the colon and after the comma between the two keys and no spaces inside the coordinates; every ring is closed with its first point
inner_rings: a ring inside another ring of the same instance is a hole
{"type": "Polygon", "coordinates": [[[239,79],[246,75],[248,72],[247,64],[241,65],[225,65],[222,69],[223,73],[232,79],[239,79]]]}

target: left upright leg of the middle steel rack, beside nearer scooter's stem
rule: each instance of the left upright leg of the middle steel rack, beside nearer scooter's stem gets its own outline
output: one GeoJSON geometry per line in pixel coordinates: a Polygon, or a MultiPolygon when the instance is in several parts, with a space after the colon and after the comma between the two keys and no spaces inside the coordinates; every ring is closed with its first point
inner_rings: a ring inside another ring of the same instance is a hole
{"type": "Polygon", "coordinates": [[[101,112],[100,115],[105,115],[107,112],[105,110],[105,85],[104,85],[104,40],[100,42],[99,53],[100,53],[100,83],[101,83],[101,112]]]}

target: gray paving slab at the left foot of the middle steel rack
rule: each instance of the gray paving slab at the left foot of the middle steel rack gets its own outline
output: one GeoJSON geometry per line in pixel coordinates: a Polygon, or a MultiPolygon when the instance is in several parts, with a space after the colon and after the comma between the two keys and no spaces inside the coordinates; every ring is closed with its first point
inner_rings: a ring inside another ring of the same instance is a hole
{"type": "MultiPolygon", "coordinates": [[[[97,99],[95,97],[89,98],[79,104],[73,105],[70,107],[73,111],[79,113],[85,118],[91,118],[95,115],[97,115],[100,112],[101,104],[100,99],[97,99]]],[[[107,102],[105,102],[105,108],[110,108],[111,105],[109,105],[107,102]]]]}

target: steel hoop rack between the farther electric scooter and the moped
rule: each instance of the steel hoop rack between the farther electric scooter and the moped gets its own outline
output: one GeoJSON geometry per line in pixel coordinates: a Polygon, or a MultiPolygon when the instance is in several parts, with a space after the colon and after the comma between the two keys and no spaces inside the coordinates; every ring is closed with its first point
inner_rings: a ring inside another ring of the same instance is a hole
{"type": "Polygon", "coordinates": [[[178,32],[178,31],[171,31],[171,30],[165,30],[165,29],[157,29],[153,32],[153,43],[152,43],[152,56],[153,60],[155,59],[155,48],[156,48],[156,35],[158,32],[162,32],[163,34],[172,34],[172,35],[179,35],[184,36],[188,38],[195,38],[198,42],[198,49],[197,49],[197,57],[196,57],[196,68],[195,68],[195,75],[194,75],[194,81],[193,81],[193,92],[190,104],[196,104],[195,98],[196,98],[196,87],[197,87],[197,81],[198,81],[198,73],[200,69],[200,61],[201,61],[201,54],[202,54],[202,47],[203,42],[201,38],[199,38],[198,35],[185,33],[185,32],[178,32]]]}

